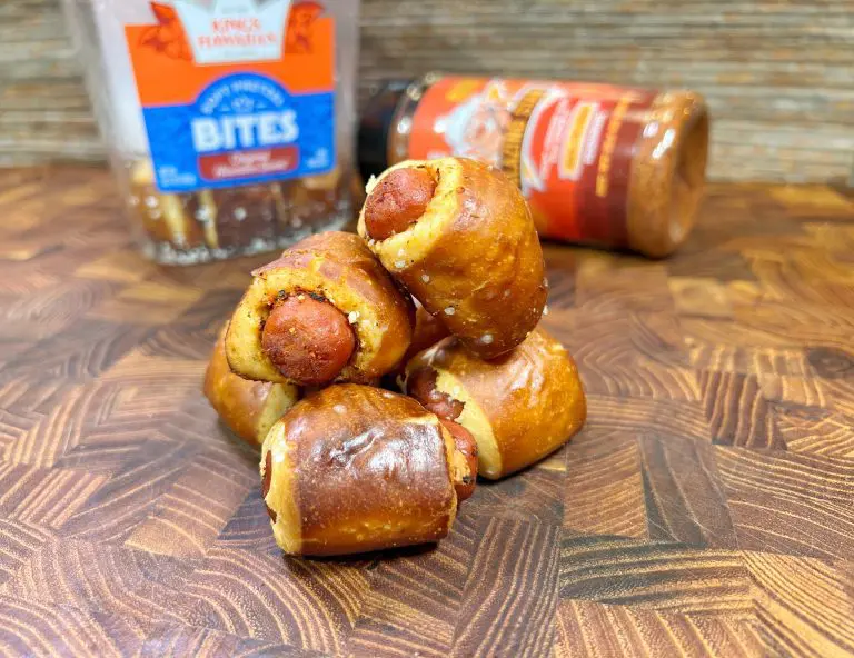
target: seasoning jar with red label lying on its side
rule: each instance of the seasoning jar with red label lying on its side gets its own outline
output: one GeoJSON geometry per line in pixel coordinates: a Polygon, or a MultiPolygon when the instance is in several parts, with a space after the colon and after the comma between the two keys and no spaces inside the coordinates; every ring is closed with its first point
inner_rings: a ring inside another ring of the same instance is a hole
{"type": "Polygon", "coordinates": [[[363,176],[470,157],[522,188],[543,238],[673,252],[705,188],[708,110],[692,91],[429,74],[380,87],[363,113],[363,176]]]}

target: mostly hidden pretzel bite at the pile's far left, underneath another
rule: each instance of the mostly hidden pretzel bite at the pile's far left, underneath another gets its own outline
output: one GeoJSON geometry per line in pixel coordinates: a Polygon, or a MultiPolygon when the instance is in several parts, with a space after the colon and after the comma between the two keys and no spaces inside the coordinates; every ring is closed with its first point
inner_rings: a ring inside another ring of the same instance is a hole
{"type": "Polygon", "coordinates": [[[226,360],[226,327],[219,332],[205,372],[205,396],[228,428],[247,443],[260,446],[272,423],[299,399],[289,383],[249,381],[226,360]]]}

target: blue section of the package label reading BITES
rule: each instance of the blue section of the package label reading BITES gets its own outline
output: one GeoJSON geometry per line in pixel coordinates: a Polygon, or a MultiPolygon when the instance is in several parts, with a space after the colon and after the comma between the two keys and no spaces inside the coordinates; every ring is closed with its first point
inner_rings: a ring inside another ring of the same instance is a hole
{"type": "Polygon", "coordinates": [[[257,73],[227,76],[191,104],[142,109],[163,192],[317,176],[335,166],[335,94],[291,94],[257,73]]]}

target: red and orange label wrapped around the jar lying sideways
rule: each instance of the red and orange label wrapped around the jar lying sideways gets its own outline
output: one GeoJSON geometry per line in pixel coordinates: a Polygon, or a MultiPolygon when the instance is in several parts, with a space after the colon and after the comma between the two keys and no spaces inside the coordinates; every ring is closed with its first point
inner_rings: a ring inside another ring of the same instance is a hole
{"type": "Polygon", "coordinates": [[[474,158],[503,169],[540,236],[627,246],[635,144],[656,93],[537,80],[443,78],[413,117],[409,158],[474,158]]]}

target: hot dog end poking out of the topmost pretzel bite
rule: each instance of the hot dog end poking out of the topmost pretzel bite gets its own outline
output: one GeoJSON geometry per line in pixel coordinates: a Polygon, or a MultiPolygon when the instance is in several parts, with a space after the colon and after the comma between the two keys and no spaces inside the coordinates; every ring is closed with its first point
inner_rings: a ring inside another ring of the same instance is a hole
{"type": "Polygon", "coordinates": [[[368,237],[385,240],[418,221],[436,191],[426,169],[396,169],[371,190],[365,201],[368,237]]]}

